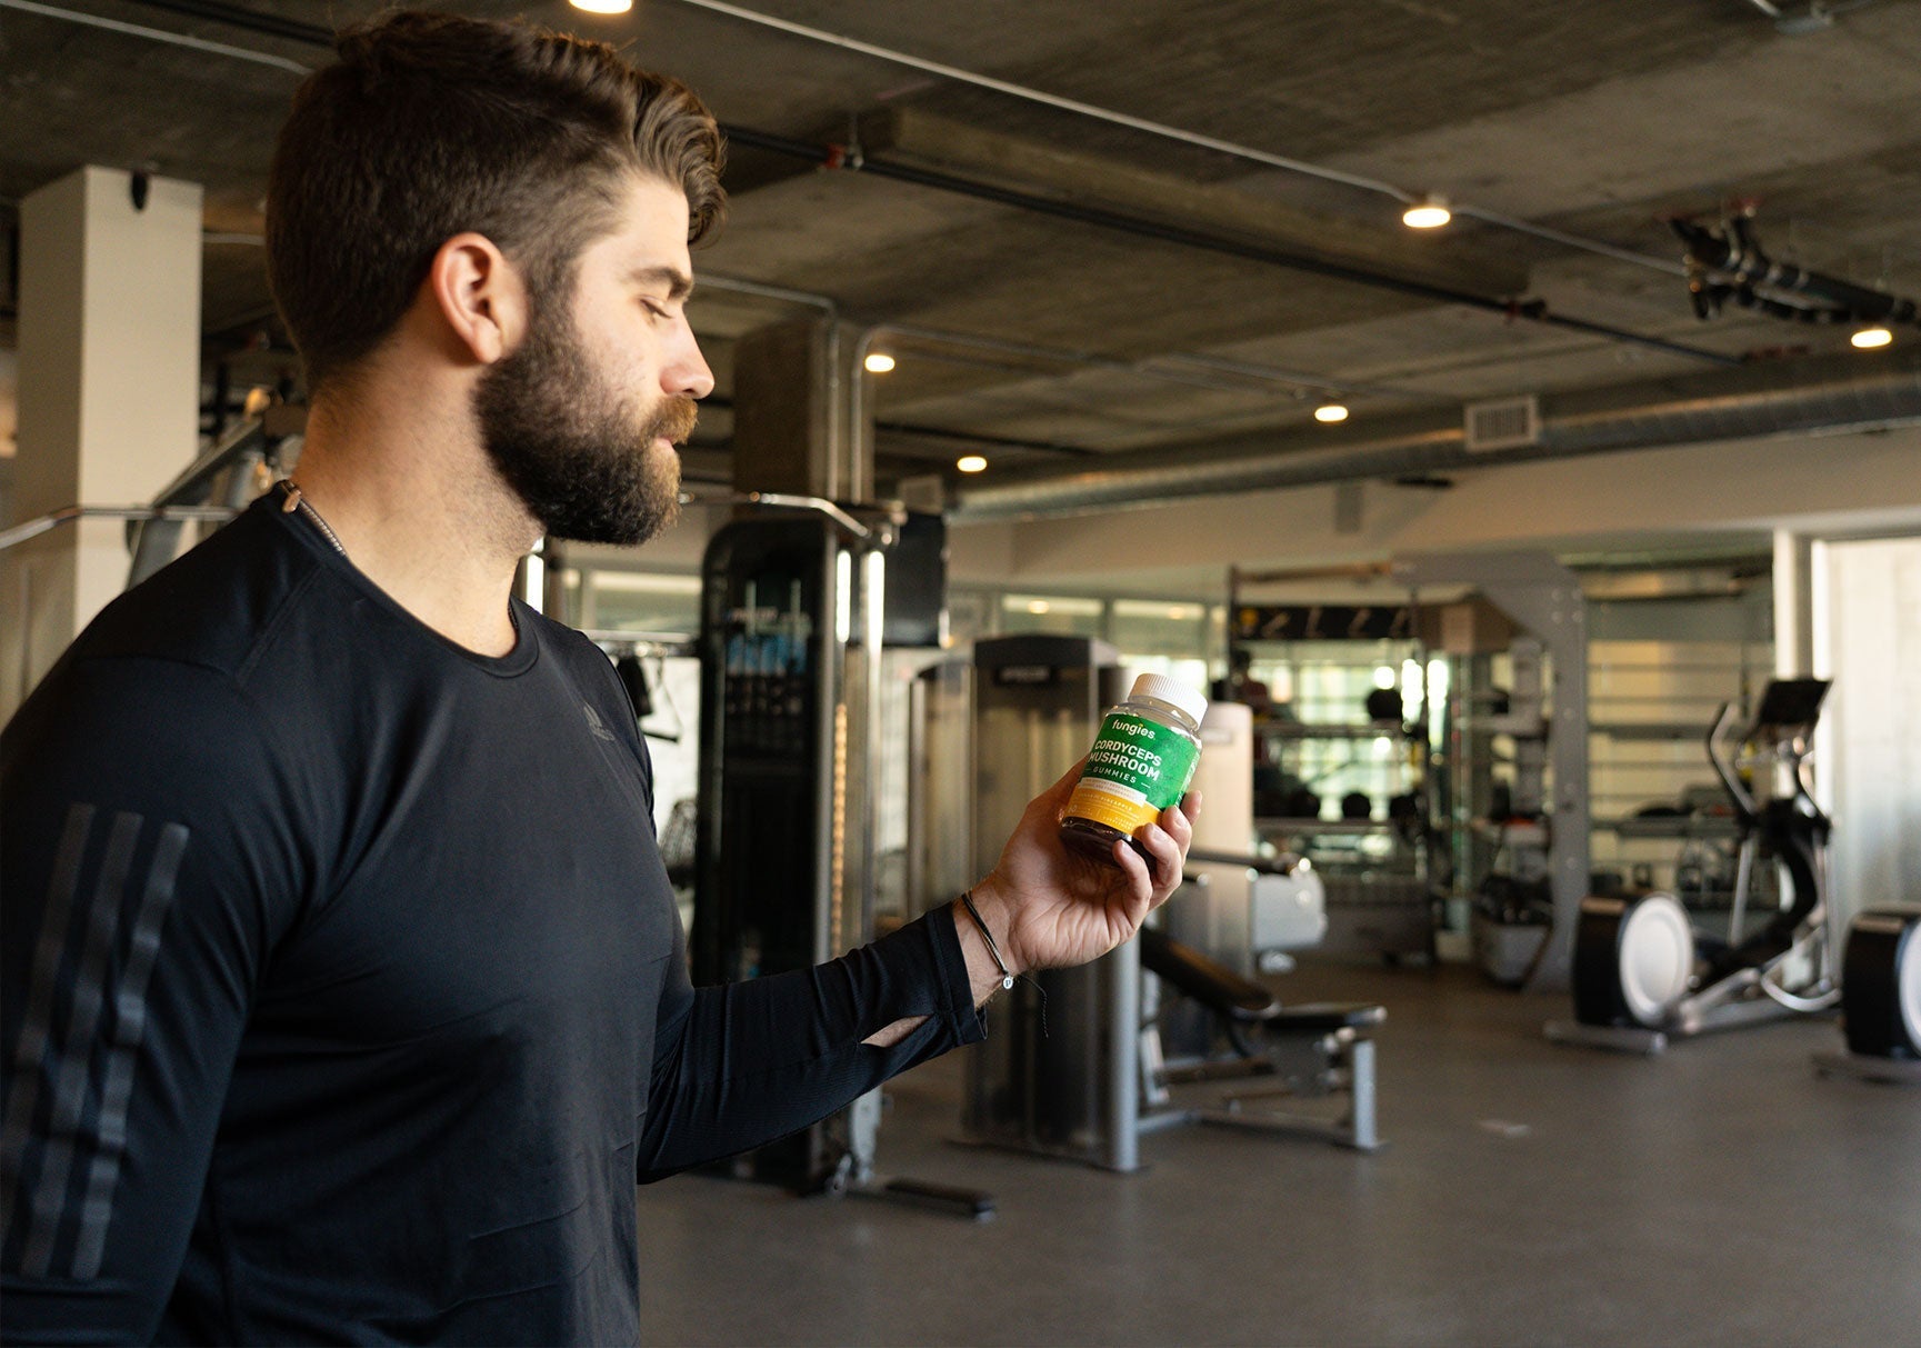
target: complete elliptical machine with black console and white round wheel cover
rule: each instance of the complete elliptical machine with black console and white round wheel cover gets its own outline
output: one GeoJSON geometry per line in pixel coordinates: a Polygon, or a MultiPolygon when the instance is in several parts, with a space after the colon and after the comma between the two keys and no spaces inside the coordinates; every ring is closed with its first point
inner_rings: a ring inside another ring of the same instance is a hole
{"type": "Polygon", "coordinates": [[[1575,1022],[1548,1022],[1548,1039],[1633,1052],[1662,1052],[1671,1037],[1739,1029],[1823,1012],[1840,1000],[1838,951],[1827,904],[1827,837],[1833,822],[1808,782],[1810,739],[1829,682],[1773,680],[1754,724],[1733,735],[1725,703],[1708,732],[1714,764],[1739,828],[1727,939],[1696,931],[1669,893],[1581,901],[1573,949],[1575,1022]],[[1735,770],[1740,745],[1779,762],[1792,795],[1756,803],[1735,770]],[[1790,903],[1744,933],[1754,866],[1777,860],[1790,903]]]}

